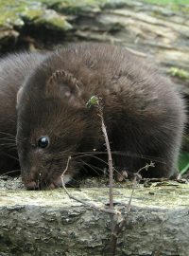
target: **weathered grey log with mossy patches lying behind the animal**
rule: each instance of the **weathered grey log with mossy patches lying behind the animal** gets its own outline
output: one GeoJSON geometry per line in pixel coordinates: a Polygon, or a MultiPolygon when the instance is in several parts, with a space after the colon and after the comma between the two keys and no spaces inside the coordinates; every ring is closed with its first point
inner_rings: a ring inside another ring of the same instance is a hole
{"type": "Polygon", "coordinates": [[[188,95],[188,15],[189,4],[173,9],[130,0],[1,1],[0,50],[51,48],[69,41],[122,45],[160,64],[188,95]]]}

